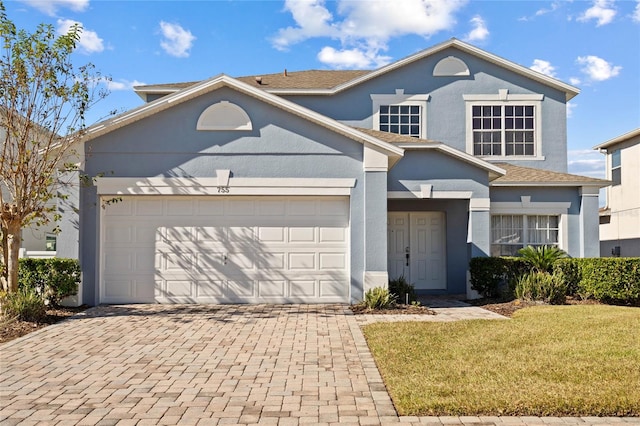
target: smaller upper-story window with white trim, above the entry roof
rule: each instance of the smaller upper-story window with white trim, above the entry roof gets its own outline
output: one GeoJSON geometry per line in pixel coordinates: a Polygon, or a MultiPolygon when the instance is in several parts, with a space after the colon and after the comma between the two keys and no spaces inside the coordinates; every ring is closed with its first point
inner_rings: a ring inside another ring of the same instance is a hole
{"type": "Polygon", "coordinates": [[[414,138],[427,138],[427,101],[429,95],[405,95],[396,89],[393,95],[371,95],[373,129],[414,138]]]}

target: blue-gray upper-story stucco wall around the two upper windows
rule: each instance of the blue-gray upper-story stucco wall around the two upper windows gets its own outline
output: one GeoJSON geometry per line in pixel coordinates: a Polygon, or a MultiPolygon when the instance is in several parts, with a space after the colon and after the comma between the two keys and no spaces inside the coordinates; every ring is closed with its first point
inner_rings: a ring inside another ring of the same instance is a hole
{"type": "Polygon", "coordinates": [[[542,155],[544,161],[514,160],[514,164],[558,172],[567,171],[565,93],[454,48],[416,61],[334,96],[288,96],[292,101],[350,125],[372,128],[371,94],[429,94],[427,138],[466,151],[466,110],[463,95],[542,94],[542,155]],[[470,70],[467,77],[434,77],[443,58],[456,56],[470,70]]]}

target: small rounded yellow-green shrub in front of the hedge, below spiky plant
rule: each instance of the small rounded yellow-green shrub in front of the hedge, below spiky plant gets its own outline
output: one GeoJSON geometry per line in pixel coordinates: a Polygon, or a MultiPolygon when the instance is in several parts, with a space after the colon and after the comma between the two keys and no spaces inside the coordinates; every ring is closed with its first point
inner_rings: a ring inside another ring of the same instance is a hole
{"type": "Polygon", "coordinates": [[[514,294],[521,300],[561,305],[566,300],[567,286],[561,275],[531,271],[516,281],[514,294]]]}

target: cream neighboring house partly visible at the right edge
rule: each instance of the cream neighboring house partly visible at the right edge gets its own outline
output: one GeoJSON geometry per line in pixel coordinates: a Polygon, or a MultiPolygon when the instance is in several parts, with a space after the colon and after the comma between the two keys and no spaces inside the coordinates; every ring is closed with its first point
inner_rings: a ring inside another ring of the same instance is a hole
{"type": "Polygon", "coordinates": [[[607,156],[600,255],[640,257],[640,128],[594,147],[607,156]]]}

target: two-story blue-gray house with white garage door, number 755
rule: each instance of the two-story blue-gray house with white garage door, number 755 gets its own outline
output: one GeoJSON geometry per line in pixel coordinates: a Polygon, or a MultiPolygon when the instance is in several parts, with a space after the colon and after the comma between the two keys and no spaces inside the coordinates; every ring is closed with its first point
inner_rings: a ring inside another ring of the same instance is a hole
{"type": "Polygon", "coordinates": [[[58,240],[84,303],[357,302],[400,275],[464,294],[474,256],[599,254],[606,182],[566,173],[578,89],[461,41],[136,91],[89,129],[83,170],[105,177],[58,240]]]}

